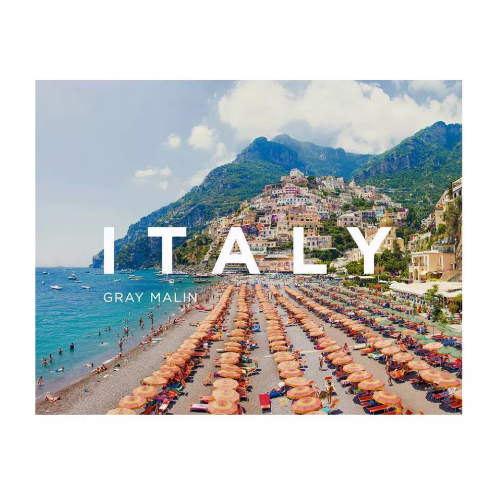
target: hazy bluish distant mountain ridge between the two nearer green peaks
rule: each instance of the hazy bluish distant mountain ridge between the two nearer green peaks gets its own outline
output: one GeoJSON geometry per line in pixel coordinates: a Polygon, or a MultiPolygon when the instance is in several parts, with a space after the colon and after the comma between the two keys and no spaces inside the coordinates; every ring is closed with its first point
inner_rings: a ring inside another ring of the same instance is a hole
{"type": "Polygon", "coordinates": [[[308,141],[298,141],[287,134],[279,134],[271,142],[283,144],[298,154],[306,165],[304,169],[301,169],[306,175],[337,175],[348,180],[356,168],[373,156],[345,153],[342,148],[324,147],[308,141]]]}

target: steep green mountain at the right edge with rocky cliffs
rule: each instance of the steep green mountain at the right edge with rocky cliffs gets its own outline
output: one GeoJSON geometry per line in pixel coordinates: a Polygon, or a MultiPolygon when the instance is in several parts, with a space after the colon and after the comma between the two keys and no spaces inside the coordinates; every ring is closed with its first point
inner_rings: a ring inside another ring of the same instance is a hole
{"type": "Polygon", "coordinates": [[[462,125],[436,122],[391,150],[369,158],[353,176],[381,187],[395,201],[429,213],[449,184],[462,175],[462,125]]]}

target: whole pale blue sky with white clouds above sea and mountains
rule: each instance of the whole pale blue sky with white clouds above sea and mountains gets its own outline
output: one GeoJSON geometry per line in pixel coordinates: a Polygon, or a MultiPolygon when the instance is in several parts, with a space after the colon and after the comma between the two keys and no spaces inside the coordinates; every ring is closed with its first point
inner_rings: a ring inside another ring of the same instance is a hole
{"type": "Polygon", "coordinates": [[[37,81],[36,265],[89,265],[256,137],[382,153],[438,120],[461,81],[37,81]]]}

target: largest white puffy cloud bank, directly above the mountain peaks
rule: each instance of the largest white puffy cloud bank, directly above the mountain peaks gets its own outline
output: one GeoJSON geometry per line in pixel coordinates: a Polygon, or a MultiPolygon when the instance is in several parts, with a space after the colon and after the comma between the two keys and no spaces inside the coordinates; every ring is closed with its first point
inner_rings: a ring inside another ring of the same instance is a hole
{"type": "Polygon", "coordinates": [[[450,89],[440,82],[411,81],[410,93],[425,87],[433,93],[433,86],[436,90],[437,97],[421,104],[407,93],[391,97],[377,83],[313,81],[295,92],[281,82],[238,82],[219,99],[218,113],[235,129],[239,141],[270,139],[288,124],[303,121],[315,132],[336,136],[329,145],[355,153],[381,153],[438,120],[462,121],[460,83],[450,89]]]}

